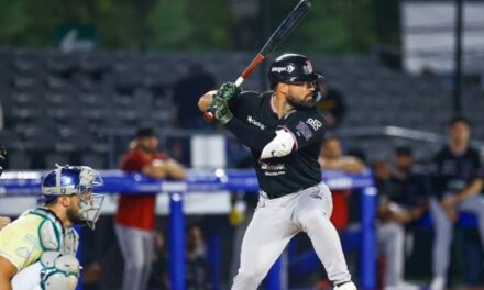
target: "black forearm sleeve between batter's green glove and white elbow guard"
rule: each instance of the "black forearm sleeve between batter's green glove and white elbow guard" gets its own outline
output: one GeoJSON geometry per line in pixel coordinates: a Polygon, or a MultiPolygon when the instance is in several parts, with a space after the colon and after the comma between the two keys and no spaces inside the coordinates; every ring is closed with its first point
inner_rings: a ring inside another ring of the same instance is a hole
{"type": "Polygon", "coordinates": [[[258,152],[262,152],[265,145],[267,145],[276,136],[275,132],[267,132],[254,126],[250,126],[237,118],[232,118],[232,120],[230,120],[224,126],[244,145],[258,152]]]}

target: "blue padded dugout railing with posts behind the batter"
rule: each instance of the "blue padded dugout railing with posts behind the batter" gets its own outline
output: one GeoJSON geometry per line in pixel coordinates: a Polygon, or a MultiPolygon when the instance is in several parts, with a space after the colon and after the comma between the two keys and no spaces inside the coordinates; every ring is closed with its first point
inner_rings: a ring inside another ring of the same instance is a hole
{"type": "MultiPolygon", "coordinates": [[[[0,197],[33,196],[38,194],[41,171],[7,171],[0,179],[0,197]]],[[[173,289],[185,288],[185,248],[184,248],[184,197],[191,191],[204,191],[207,194],[216,190],[243,190],[254,192],[258,189],[254,170],[188,170],[186,181],[160,181],[146,178],[142,175],[127,175],[119,170],[101,171],[105,185],[97,192],[116,194],[118,192],[164,192],[170,197],[169,205],[169,245],[170,265],[169,276],[173,289]]],[[[375,210],[376,190],[370,170],[360,175],[345,175],[341,171],[326,171],[323,179],[332,189],[353,189],[359,191],[361,198],[362,232],[361,244],[361,285],[360,289],[375,289],[375,210]]],[[[220,249],[215,249],[220,250],[220,249]]],[[[219,255],[220,256],[220,255],[219,255]]],[[[217,255],[215,255],[217,257],[217,255]]],[[[212,260],[216,266],[220,261],[212,260]]],[[[275,267],[278,267],[276,263],[275,267]]],[[[217,268],[217,267],[213,267],[217,268]]],[[[219,269],[216,269],[219,270],[219,269]]],[[[219,277],[213,275],[212,277],[219,277]]],[[[280,271],[274,270],[267,276],[267,285],[271,290],[278,290],[280,285],[280,271]]],[[[212,281],[215,289],[220,289],[219,281],[212,281]]]]}

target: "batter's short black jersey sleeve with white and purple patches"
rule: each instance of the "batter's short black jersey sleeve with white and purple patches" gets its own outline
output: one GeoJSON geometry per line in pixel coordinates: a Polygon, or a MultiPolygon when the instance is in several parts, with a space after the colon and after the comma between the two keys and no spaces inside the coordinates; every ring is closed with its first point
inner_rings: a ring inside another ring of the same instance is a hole
{"type": "Polygon", "coordinates": [[[320,142],[326,133],[324,116],[317,112],[295,112],[279,126],[289,131],[295,138],[295,149],[320,142]]]}

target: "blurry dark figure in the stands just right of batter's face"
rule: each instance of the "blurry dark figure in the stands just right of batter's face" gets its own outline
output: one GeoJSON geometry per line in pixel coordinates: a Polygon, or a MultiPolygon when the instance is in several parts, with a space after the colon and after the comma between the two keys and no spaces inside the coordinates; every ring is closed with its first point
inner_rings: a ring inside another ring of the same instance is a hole
{"type": "Polygon", "coordinates": [[[321,91],[322,99],[318,103],[317,108],[324,114],[328,129],[338,127],[346,115],[346,103],[340,91],[334,88],[330,88],[326,82],[318,82],[319,90],[321,91]]]}

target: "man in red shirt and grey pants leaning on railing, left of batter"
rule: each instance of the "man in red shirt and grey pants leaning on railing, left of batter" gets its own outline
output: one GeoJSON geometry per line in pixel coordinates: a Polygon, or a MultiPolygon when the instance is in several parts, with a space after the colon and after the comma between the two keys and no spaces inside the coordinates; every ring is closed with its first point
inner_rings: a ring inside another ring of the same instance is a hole
{"type": "MultiPolygon", "coordinates": [[[[157,152],[158,138],[153,129],[139,129],[133,145],[123,156],[123,171],[156,179],[185,179],[185,168],[157,152]]],[[[120,196],[114,228],[124,259],[123,290],[147,288],[154,255],[155,202],[153,193],[120,196]]]]}

